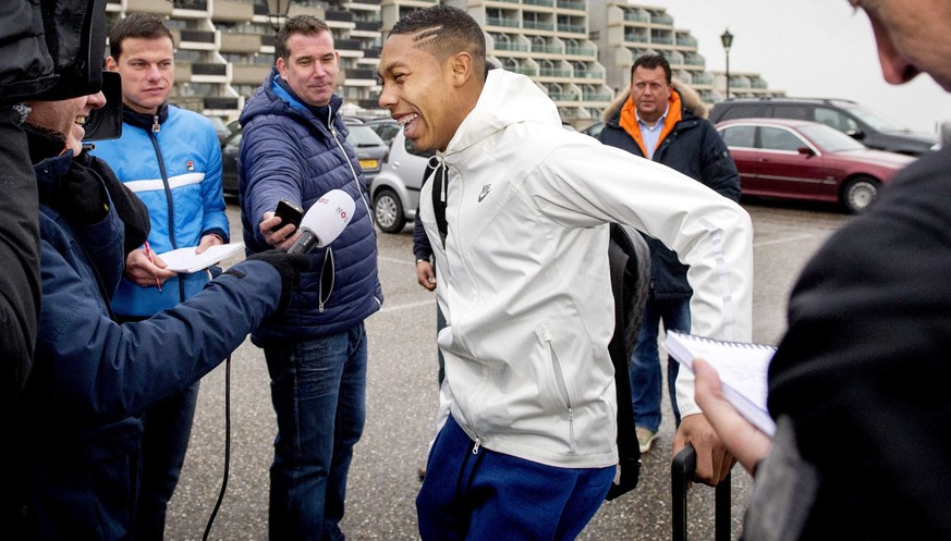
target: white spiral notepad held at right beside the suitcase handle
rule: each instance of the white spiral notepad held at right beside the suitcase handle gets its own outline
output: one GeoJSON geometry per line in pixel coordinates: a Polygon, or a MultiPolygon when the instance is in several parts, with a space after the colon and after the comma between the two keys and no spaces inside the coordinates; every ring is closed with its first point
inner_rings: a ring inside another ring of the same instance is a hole
{"type": "Polygon", "coordinates": [[[665,347],[674,360],[693,370],[699,357],[720,376],[723,397],[759,430],[770,437],[776,423],[766,408],[766,376],[776,347],[764,344],[724,342],[695,334],[669,331],[665,347]]]}

